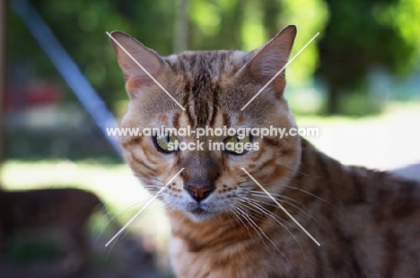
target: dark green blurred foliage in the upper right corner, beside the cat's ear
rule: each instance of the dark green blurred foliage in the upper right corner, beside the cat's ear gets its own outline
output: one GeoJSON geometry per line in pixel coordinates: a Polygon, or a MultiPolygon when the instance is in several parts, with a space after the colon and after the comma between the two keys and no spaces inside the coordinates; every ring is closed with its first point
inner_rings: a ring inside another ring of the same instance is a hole
{"type": "Polygon", "coordinates": [[[419,0],[326,3],[330,18],[325,35],[319,39],[318,73],[327,83],[328,113],[341,112],[342,100],[354,91],[366,98],[367,75],[372,67],[381,66],[401,76],[418,66],[419,0]]]}

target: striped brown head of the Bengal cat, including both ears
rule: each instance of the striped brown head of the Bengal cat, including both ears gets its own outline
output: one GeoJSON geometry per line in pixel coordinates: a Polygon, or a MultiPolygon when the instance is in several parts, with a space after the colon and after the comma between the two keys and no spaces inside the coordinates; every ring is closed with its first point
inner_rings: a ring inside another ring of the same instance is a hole
{"type": "Polygon", "coordinates": [[[127,34],[112,32],[118,43],[112,39],[111,43],[130,97],[120,127],[132,128],[135,133],[162,126],[178,129],[177,136],[127,134],[120,138],[127,163],[153,194],[183,169],[159,195],[170,209],[194,221],[231,212],[246,202],[252,190],[260,191],[241,168],[270,193],[281,193],[282,185],[292,178],[300,163],[299,136],[262,138],[256,129],[254,135],[239,137],[214,133],[223,126],[226,131],[230,127],[288,130],[294,126],[283,96],[284,72],[271,79],[287,63],[295,35],[296,28],[288,26],[250,53],[186,51],[160,56],[127,34]],[[184,135],[181,128],[204,128],[207,133],[197,139],[197,133],[184,135]],[[173,150],[175,144],[171,143],[183,143],[187,149],[179,145],[173,150]],[[230,150],[217,150],[227,143],[231,143],[230,150]],[[241,146],[248,146],[248,151],[241,152],[241,146]]]}

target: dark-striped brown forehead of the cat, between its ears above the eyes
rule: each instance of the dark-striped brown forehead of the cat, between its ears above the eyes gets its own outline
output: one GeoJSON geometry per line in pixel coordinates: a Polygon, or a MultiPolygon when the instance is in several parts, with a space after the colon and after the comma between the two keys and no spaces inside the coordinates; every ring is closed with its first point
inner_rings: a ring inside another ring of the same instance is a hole
{"type": "MultiPolygon", "coordinates": [[[[246,100],[259,90],[258,84],[243,80],[238,74],[250,57],[249,53],[238,50],[185,51],[162,57],[171,68],[162,83],[186,109],[183,114],[188,120],[183,124],[194,127],[214,123],[229,125],[231,121],[238,122],[235,118],[239,115],[242,119],[246,117],[248,124],[266,120],[266,115],[260,111],[262,108],[265,111],[274,109],[271,97],[261,96],[249,106],[247,113],[241,113],[246,100]]],[[[145,122],[162,115],[179,115],[179,107],[158,91],[157,86],[153,87],[143,94],[141,101],[136,101],[138,109],[135,114],[143,114],[147,118],[145,122]]]]}

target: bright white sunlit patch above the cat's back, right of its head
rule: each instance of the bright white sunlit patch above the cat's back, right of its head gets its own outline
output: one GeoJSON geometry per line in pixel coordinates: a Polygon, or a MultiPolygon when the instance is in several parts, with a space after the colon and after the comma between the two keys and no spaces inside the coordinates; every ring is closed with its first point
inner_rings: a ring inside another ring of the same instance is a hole
{"type": "Polygon", "coordinates": [[[297,117],[299,126],[319,127],[308,138],[345,164],[397,169],[420,162],[420,105],[390,106],[377,117],[297,117]]]}

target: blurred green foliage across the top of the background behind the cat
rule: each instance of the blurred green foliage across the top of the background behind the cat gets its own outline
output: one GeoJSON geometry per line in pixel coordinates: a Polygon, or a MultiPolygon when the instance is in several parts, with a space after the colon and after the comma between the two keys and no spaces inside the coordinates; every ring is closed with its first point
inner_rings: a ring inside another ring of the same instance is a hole
{"type": "MultiPolygon", "coordinates": [[[[162,55],[171,54],[177,36],[175,1],[31,0],[31,4],[114,112],[127,95],[105,32],[125,31],[162,55]]],[[[21,20],[9,14],[9,62],[30,61],[35,77],[54,78],[57,73],[48,58],[21,20]]],[[[339,112],[337,99],[346,92],[365,93],[360,88],[372,66],[400,75],[418,66],[419,18],[420,0],[189,0],[187,45],[196,50],[249,51],[295,24],[295,54],[319,31],[317,42],[287,69],[288,83],[311,85],[318,68],[332,96],[334,108],[328,110],[339,112]]]]}

